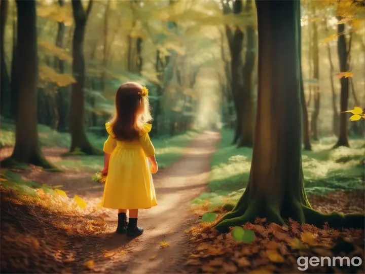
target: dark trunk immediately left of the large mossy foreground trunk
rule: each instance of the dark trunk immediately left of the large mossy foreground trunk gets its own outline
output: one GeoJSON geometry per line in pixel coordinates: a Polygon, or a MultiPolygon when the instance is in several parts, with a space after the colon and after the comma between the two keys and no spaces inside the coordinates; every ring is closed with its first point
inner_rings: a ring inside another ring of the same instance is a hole
{"type": "MultiPolygon", "coordinates": [[[[252,0],[246,1],[246,12],[252,10],[252,0]]],[[[252,102],[252,72],[256,59],[255,30],[247,26],[247,49],[243,66],[243,88],[241,92],[241,138],[238,147],[252,147],[253,144],[253,102],[252,102]]]]}

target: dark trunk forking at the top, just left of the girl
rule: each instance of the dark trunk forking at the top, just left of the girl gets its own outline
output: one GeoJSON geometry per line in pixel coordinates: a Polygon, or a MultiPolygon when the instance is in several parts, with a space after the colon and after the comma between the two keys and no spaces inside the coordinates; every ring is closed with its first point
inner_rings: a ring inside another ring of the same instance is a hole
{"type": "Polygon", "coordinates": [[[93,148],[86,136],[84,127],[84,84],[85,84],[85,60],[84,60],[84,36],[86,21],[92,7],[92,0],[89,1],[85,12],[81,1],[72,1],[74,13],[75,31],[72,40],[72,75],[76,83],[72,84],[71,106],[70,106],[70,152],[81,151],[88,155],[98,155],[102,152],[93,148]]]}

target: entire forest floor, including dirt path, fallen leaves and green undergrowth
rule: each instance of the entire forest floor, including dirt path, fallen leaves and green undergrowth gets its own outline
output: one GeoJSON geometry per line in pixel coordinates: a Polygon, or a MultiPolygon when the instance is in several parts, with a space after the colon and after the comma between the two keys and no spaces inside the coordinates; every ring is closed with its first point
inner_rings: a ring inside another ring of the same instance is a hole
{"type": "MultiPolygon", "coordinates": [[[[236,241],[232,233],[218,234],[212,225],[226,213],[223,203],[232,204],[242,194],[239,188],[245,186],[242,182],[249,172],[245,166],[250,161],[250,149],[229,145],[230,135],[224,131],[222,137],[217,146],[218,133],[196,135],[181,158],[159,170],[154,176],[159,205],[141,211],[139,224],[145,232],[137,238],[117,235],[116,212],[98,204],[103,185],[91,177],[99,166],[79,156],[62,156],[64,148],[44,148],[50,161],[61,163],[63,173],[31,167],[0,178],[2,272],[365,272],[360,229],[316,228],[293,221],[280,227],[258,219],[243,226],[254,232],[251,243],[236,241]],[[86,203],[85,209],[77,206],[80,201],[75,202],[74,195],[86,203]],[[216,219],[202,222],[208,211],[216,213],[216,219]],[[302,271],[300,256],[358,256],[362,264],[340,267],[337,261],[336,266],[309,265],[302,271]]],[[[307,191],[314,209],[364,213],[360,145],[355,142],[352,149],[332,152],[327,144],[318,144],[308,156],[304,152],[307,191]]],[[[1,156],[10,153],[4,149],[1,156]]]]}

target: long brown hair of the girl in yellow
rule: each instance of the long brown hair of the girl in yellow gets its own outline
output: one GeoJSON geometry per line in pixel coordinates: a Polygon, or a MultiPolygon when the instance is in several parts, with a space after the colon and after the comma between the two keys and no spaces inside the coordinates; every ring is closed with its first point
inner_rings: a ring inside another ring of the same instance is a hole
{"type": "Polygon", "coordinates": [[[152,120],[147,96],[140,95],[142,86],[136,82],[121,85],[115,97],[115,115],[111,120],[115,138],[120,141],[138,139],[143,124],[152,120]]]}

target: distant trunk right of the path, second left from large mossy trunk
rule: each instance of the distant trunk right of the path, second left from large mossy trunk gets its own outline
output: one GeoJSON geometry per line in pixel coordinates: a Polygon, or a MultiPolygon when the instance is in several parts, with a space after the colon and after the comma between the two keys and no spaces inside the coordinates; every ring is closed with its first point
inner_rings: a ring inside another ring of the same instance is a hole
{"type": "MultiPolygon", "coordinates": [[[[233,12],[233,14],[240,14],[242,12],[242,0],[237,0],[233,2],[232,9],[229,6],[229,1],[224,1],[223,3],[223,13],[228,14],[233,12]]],[[[236,128],[235,135],[233,138],[233,144],[237,144],[241,137],[241,126],[242,126],[242,113],[241,106],[239,104],[242,99],[239,96],[242,89],[242,45],[243,45],[243,31],[239,26],[230,27],[226,25],[226,36],[228,40],[228,46],[231,53],[231,90],[233,94],[233,102],[236,110],[236,128]]]]}

